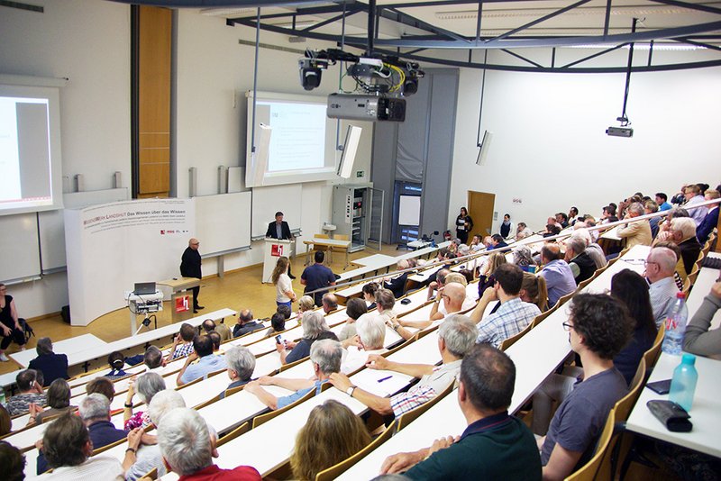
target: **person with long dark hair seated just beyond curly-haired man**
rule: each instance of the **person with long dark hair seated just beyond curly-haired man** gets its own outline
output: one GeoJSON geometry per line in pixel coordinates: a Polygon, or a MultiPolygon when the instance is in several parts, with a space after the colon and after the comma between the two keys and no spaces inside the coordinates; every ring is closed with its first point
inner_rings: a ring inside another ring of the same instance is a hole
{"type": "Polygon", "coordinates": [[[623,269],[611,278],[611,295],[628,309],[633,325],[631,341],[614,358],[614,366],[630,386],[643,353],[651,349],[656,340],[648,283],[633,270],[623,269]]]}

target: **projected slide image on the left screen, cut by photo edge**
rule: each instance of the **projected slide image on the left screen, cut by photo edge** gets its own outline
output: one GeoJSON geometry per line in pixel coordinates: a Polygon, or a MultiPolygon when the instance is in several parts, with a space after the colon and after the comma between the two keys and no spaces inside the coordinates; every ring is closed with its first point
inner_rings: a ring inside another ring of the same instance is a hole
{"type": "Polygon", "coordinates": [[[52,204],[47,98],[0,96],[0,210],[52,204]]]}

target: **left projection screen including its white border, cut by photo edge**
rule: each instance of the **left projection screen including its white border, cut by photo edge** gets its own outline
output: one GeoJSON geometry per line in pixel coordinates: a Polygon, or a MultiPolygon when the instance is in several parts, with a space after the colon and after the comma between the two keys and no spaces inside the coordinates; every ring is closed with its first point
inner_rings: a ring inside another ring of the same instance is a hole
{"type": "Polygon", "coordinates": [[[59,90],[0,85],[0,215],[60,208],[59,90]]]}

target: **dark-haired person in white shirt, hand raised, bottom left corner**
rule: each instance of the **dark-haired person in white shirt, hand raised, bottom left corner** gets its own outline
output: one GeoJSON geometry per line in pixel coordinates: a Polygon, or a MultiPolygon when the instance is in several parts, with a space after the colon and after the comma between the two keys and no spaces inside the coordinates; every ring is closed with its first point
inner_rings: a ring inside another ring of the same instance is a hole
{"type": "MultiPolygon", "coordinates": [[[[102,396],[101,396],[102,397],[102,396]]],[[[141,430],[128,435],[128,447],[123,464],[117,458],[93,454],[93,441],[85,423],[76,415],[63,414],[42,435],[41,450],[47,460],[51,473],[45,473],[38,479],[125,479],[125,468],[132,464],[132,449],[138,449],[142,436],[141,430]]]]}

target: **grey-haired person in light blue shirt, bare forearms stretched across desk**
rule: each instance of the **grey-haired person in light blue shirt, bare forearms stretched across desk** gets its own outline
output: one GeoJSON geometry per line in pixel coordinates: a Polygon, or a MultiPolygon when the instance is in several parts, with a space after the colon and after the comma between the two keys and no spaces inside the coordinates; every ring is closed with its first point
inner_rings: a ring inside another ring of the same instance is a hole
{"type": "Polygon", "coordinates": [[[276,410],[295,403],[298,399],[315,389],[315,394],[321,392],[321,386],[328,382],[331,374],[341,370],[343,348],[337,340],[316,340],[310,348],[310,361],[313,364],[313,378],[287,379],[278,376],[263,376],[256,381],[245,385],[245,391],[255,395],[261,403],[270,409],[276,410]],[[262,386],[280,386],[290,391],[292,395],[276,397],[271,395],[262,386]]]}

